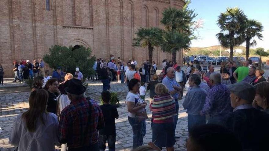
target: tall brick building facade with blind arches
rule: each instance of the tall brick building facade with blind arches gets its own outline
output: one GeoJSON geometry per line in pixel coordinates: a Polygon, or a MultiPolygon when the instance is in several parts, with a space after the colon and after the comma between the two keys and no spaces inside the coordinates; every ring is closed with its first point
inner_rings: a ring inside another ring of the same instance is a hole
{"type": "MultiPolygon", "coordinates": [[[[13,61],[41,59],[52,45],[84,45],[99,58],[148,59],[145,48],[132,47],[141,26],[160,27],[162,11],[182,8],[182,0],[1,0],[0,64],[13,76],[13,61]]],[[[171,55],[154,49],[161,64],[171,55]]],[[[182,52],[177,60],[182,63],[182,52]]]]}

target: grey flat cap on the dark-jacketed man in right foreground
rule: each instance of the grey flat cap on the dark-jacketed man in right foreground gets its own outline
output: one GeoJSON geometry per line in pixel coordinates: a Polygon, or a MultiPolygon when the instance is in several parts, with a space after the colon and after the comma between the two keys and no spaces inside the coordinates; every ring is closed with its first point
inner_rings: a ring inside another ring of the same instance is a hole
{"type": "Polygon", "coordinates": [[[241,99],[252,102],[255,98],[256,88],[247,82],[237,82],[227,87],[241,99]]]}

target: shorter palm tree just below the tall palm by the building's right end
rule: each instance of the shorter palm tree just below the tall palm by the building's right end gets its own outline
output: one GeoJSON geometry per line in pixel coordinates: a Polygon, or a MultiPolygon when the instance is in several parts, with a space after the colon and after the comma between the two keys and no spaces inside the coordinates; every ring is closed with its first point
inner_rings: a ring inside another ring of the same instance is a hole
{"type": "Polygon", "coordinates": [[[176,61],[176,52],[184,50],[190,50],[190,38],[179,31],[167,31],[163,34],[163,43],[161,49],[164,52],[172,54],[172,61],[176,61]]]}

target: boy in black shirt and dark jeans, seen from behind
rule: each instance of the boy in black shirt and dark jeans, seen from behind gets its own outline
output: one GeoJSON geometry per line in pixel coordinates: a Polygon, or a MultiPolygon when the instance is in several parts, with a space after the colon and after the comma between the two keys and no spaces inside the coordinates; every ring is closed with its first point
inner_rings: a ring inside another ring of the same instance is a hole
{"type": "Polygon", "coordinates": [[[111,94],[109,91],[101,93],[103,105],[100,106],[105,118],[105,128],[99,131],[99,149],[105,151],[106,140],[108,142],[109,151],[115,151],[116,143],[116,125],[115,118],[119,118],[116,106],[109,104],[111,94]]]}

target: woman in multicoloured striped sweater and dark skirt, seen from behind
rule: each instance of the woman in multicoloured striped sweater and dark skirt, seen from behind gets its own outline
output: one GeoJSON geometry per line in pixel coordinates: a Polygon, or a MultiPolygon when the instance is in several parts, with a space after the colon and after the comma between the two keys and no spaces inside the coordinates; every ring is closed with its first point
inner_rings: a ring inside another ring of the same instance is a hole
{"type": "Polygon", "coordinates": [[[155,86],[157,95],[150,104],[152,110],[152,142],[155,142],[161,150],[174,151],[175,131],[173,116],[176,115],[175,99],[169,94],[164,84],[155,86]]]}

